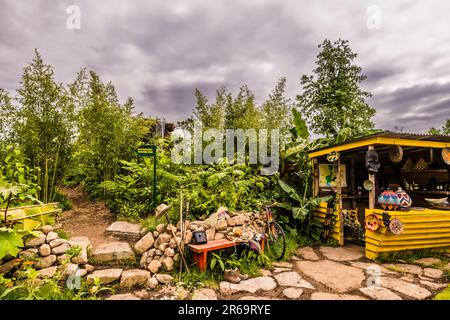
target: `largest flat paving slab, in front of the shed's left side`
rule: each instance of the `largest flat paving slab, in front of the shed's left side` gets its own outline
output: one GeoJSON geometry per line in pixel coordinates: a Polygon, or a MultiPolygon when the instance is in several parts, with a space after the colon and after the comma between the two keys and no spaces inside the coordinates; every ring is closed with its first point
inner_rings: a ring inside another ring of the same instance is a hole
{"type": "Polygon", "coordinates": [[[301,274],[320,282],[338,293],[358,289],[364,281],[364,272],[334,261],[297,261],[295,267],[301,274]]]}

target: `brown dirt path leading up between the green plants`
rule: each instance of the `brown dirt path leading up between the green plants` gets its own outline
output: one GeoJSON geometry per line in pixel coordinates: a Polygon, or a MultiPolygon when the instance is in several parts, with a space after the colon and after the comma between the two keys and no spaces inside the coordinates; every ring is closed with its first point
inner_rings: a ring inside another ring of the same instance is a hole
{"type": "Polygon", "coordinates": [[[102,201],[91,202],[82,188],[64,188],[64,194],[72,202],[73,209],[65,211],[60,220],[62,228],[70,237],[85,236],[96,247],[110,242],[105,230],[114,222],[114,215],[102,201]]]}

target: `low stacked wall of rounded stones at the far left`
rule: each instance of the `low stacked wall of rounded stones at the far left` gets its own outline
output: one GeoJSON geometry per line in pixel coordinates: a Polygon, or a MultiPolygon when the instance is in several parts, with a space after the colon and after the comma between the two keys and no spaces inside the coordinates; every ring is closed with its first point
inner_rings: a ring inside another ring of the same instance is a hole
{"type": "Polygon", "coordinates": [[[0,266],[0,273],[5,274],[13,269],[20,268],[21,264],[32,263],[39,270],[41,277],[52,277],[56,271],[63,273],[76,273],[84,276],[92,269],[88,263],[88,250],[91,244],[87,237],[75,237],[71,240],[59,238],[53,227],[45,225],[36,235],[27,237],[24,249],[18,254],[18,259],[12,258],[0,266]],[[81,251],[77,256],[70,257],[67,251],[78,246],[81,251]]]}

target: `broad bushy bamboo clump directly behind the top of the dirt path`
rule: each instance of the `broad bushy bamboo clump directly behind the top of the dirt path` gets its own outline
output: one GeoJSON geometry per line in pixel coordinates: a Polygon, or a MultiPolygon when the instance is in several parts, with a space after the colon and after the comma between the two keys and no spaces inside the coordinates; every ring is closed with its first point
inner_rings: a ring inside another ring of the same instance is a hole
{"type": "Polygon", "coordinates": [[[95,189],[100,182],[114,180],[120,160],[133,156],[146,131],[144,120],[133,115],[131,98],[121,105],[114,86],[103,83],[93,71],[89,75],[80,71],[69,87],[74,108],[79,110],[72,175],[95,189]]]}

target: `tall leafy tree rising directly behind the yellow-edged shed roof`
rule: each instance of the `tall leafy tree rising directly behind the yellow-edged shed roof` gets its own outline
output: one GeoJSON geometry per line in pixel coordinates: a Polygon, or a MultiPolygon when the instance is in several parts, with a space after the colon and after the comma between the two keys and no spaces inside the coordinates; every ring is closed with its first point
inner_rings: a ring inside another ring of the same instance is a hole
{"type": "Polygon", "coordinates": [[[325,40],[319,48],[313,75],[301,78],[300,110],[316,134],[332,137],[344,128],[349,137],[364,134],[374,127],[375,109],[366,102],[371,94],[360,88],[366,76],[354,63],[357,54],[341,39],[325,40]]]}

